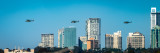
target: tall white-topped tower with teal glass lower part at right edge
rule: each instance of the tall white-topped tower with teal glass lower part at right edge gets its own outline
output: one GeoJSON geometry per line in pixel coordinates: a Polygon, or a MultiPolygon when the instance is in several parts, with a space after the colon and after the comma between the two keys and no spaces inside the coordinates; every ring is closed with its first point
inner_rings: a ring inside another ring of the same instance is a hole
{"type": "Polygon", "coordinates": [[[156,7],[151,8],[151,48],[160,48],[159,41],[160,12],[156,7]]]}

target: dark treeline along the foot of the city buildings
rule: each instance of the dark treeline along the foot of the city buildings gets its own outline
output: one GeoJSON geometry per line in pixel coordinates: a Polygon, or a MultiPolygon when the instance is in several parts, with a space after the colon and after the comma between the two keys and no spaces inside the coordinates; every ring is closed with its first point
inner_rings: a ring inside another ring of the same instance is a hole
{"type": "MultiPolygon", "coordinates": [[[[0,53],[4,53],[3,49],[0,49],[0,53]]],[[[35,47],[34,53],[160,53],[160,48],[127,48],[125,50],[121,49],[111,49],[111,48],[96,48],[90,50],[82,50],[81,48],[74,46],[73,49],[69,48],[42,48],[35,47]]]]}

